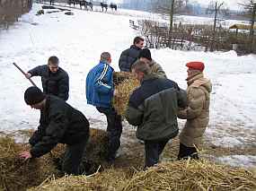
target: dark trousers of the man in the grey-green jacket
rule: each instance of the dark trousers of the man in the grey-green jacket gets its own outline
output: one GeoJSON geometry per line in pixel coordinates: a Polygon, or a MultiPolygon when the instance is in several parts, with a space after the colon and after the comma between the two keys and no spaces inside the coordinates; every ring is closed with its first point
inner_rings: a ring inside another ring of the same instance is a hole
{"type": "Polygon", "coordinates": [[[145,141],[145,168],[152,167],[158,163],[159,156],[168,141],[169,139],[159,142],[145,141]]]}

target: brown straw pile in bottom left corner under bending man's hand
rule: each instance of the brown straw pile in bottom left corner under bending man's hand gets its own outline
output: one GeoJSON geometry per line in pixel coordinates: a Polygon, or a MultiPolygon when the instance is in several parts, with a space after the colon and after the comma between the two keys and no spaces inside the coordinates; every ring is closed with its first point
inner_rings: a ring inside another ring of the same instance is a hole
{"type": "Polygon", "coordinates": [[[19,159],[18,153],[28,149],[24,144],[14,143],[11,137],[0,138],[0,190],[25,190],[57,174],[49,156],[30,161],[19,159]]]}

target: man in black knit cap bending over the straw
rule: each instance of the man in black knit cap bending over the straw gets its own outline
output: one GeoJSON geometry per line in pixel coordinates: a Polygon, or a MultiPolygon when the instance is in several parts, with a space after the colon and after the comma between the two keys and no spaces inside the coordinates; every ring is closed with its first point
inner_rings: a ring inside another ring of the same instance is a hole
{"type": "Polygon", "coordinates": [[[19,153],[27,160],[50,152],[57,143],[66,143],[62,170],[66,174],[84,173],[82,158],[89,138],[89,122],[84,115],[56,96],[46,96],[37,87],[24,93],[32,109],[40,109],[40,126],[31,136],[31,150],[19,153]]]}

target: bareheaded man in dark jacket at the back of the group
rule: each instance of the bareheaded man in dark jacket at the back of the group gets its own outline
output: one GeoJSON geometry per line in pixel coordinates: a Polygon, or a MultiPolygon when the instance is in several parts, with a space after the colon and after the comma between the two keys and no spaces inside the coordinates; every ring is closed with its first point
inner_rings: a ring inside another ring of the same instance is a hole
{"type": "Polygon", "coordinates": [[[131,72],[131,65],[137,61],[140,50],[144,46],[144,39],[136,37],[133,45],[124,50],[119,58],[119,68],[121,72],[131,72]]]}

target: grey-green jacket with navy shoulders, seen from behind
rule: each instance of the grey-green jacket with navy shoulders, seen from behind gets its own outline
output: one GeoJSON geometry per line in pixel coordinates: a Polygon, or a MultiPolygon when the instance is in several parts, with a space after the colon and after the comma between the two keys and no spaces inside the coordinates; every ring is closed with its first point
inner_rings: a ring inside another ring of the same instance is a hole
{"type": "Polygon", "coordinates": [[[158,78],[153,74],[142,82],[130,96],[127,114],[128,122],[138,126],[137,138],[162,140],[178,134],[178,106],[185,105],[180,94],[176,82],[158,78]],[[138,115],[135,123],[133,115],[138,115]]]}

